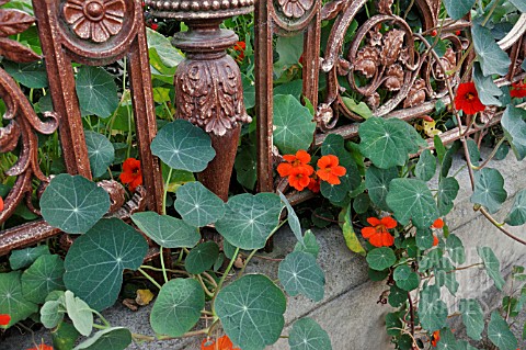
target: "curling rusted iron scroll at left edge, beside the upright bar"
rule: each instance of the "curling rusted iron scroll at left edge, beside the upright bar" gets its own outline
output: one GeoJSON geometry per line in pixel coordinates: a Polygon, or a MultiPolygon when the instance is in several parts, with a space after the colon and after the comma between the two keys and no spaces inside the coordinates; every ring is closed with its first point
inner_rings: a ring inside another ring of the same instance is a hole
{"type": "Polygon", "coordinates": [[[7,109],[3,120],[10,121],[7,126],[0,127],[0,153],[12,151],[20,145],[18,161],[5,171],[7,176],[16,177],[16,180],[4,199],[5,208],[0,212],[0,223],[3,223],[33,190],[33,178],[43,182],[48,181],[38,167],[38,138],[35,132],[46,135],[54,133],[58,127],[58,116],[53,112],[46,112],[44,113],[46,121],[38,118],[16,82],[2,69],[0,69],[0,98],[7,109]]]}

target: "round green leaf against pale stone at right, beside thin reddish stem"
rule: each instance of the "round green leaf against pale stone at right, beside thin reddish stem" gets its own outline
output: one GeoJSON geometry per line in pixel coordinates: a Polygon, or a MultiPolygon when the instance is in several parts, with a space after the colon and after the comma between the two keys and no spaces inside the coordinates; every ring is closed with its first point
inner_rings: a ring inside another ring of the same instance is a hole
{"type": "Polygon", "coordinates": [[[494,214],[501,208],[506,197],[504,178],[499,170],[483,168],[474,173],[474,192],[471,195],[471,203],[485,206],[488,212],[494,214]]]}

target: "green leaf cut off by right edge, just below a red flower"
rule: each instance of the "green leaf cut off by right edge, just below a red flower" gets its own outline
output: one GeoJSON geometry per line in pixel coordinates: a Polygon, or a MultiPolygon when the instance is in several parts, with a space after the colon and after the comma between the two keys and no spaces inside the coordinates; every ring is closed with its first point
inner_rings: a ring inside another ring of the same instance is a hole
{"type": "Polygon", "coordinates": [[[526,111],[508,105],[502,115],[501,125],[515,157],[523,160],[526,157],[526,111]]]}

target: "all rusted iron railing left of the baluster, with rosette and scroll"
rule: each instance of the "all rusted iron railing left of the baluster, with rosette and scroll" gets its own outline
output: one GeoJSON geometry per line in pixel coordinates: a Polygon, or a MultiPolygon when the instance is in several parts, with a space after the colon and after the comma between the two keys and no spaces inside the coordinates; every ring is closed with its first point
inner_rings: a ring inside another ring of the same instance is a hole
{"type": "MultiPolygon", "coordinates": [[[[49,182],[49,178],[38,168],[36,133],[52,134],[58,127],[67,172],[92,178],[71,64],[101,66],[125,56],[129,68],[144,188],[139,187],[133,199],[124,203],[124,189],[118,182],[103,181],[99,185],[110,194],[112,214],[108,215],[126,218],[130,213],[145,208],[160,213],[163,183],[159,160],[150,150],[157,124],[140,1],[35,0],[33,9],[55,112],[45,113],[45,120],[42,121],[14,80],[0,70],[0,97],[8,110],[3,118],[11,121],[0,128],[0,153],[13,151],[21,145],[16,163],[5,173],[16,179],[5,197],[0,223],[12,215],[24,197],[31,203],[34,179],[41,181],[39,194],[49,182]]],[[[7,38],[7,35],[26,30],[35,19],[21,11],[1,9],[0,19],[4,15],[16,15],[20,23],[12,27],[2,25],[5,33],[0,32],[0,54],[14,61],[41,59],[38,55],[7,38]],[[14,14],[10,14],[10,11],[14,11],[14,14]],[[8,50],[11,53],[4,54],[8,50]]],[[[28,207],[32,210],[33,205],[28,207]]],[[[33,212],[38,213],[34,208],[33,212]]],[[[0,232],[0,255],[57,234],[59,230],[44,221],[0,232]]]]}

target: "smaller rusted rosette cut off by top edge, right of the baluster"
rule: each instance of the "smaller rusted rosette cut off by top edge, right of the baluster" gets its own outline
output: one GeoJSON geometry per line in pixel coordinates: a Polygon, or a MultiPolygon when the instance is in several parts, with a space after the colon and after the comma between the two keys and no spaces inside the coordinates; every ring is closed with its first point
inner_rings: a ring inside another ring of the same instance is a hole
{"type": "Polygon", "coordinates": [[[321,8],[320,0],[270,0],[273,3],[271,15],[277,26],[287,32],[304,30],[309,25],[317,10],[321,8]]]}

